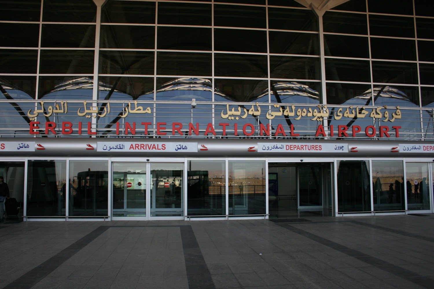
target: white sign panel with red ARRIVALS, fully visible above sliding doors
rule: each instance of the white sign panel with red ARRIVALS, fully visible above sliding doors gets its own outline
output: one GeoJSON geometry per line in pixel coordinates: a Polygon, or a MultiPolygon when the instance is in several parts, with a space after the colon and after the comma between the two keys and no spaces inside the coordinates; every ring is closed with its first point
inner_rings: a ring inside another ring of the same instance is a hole
{"type": "Polygon", "coordinates": [[[98,152],[179,152],[197,153],[197,143],[98,142],[98,152]]]}

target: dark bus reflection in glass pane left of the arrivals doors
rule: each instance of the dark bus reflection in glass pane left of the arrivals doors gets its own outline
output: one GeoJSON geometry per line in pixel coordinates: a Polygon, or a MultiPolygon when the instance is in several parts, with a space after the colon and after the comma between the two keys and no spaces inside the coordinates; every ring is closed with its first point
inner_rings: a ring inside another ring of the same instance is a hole
{"type": "Polygon", "coordinates": [[[107,171],[79,172],[69,190],[69,216],[107,216],[107,185],[107,171]]]}

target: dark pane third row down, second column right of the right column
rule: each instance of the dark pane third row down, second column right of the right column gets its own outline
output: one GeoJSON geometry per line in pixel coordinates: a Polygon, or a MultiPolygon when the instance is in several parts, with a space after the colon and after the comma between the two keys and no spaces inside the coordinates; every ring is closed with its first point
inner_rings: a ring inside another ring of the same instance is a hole
{"type": "Polygon", "coordinates": [[[377,59],[416,61],[416,43],[407,39],[371,38],[371,55],[377,59]]]}

